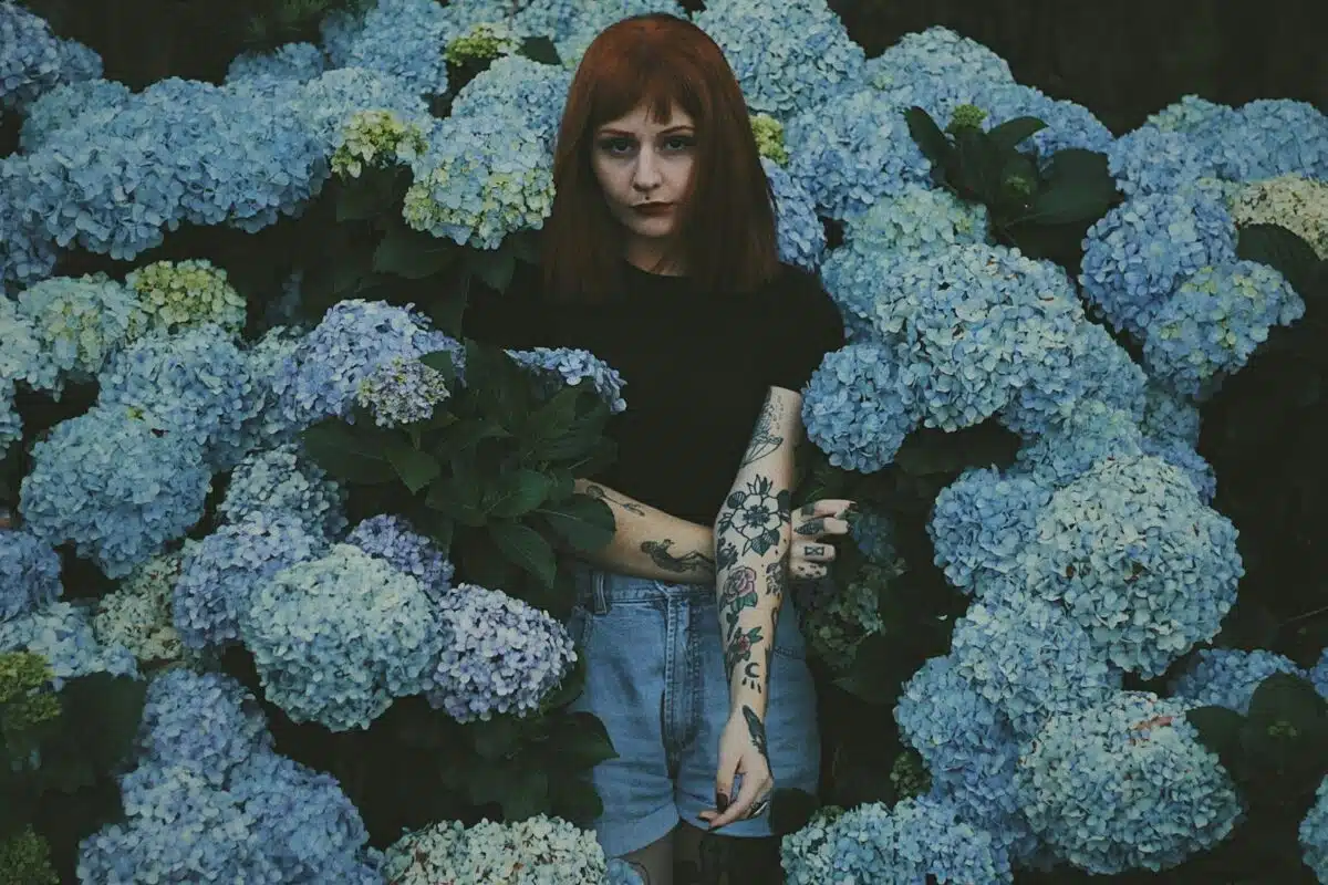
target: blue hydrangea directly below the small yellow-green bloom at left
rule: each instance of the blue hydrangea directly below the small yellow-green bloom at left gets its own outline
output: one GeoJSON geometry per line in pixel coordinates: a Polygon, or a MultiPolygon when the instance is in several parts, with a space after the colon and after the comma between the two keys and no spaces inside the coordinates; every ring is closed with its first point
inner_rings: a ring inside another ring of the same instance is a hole
{"type": "Polygon", "coordinates": [[[236,340],[214,324],[150,334],[110,358],[97,378],[97,403],[179,434],[224,470],[243,455],[242,430],[252,403],[247,369],[236,340]]]}

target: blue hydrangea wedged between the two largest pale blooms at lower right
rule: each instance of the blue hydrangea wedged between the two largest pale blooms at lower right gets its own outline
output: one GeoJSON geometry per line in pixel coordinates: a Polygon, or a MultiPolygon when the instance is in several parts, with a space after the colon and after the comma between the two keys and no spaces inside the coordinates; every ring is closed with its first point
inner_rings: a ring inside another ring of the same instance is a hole
{"type": "Polygon", "coordinates": [[[1121,687],[1121,671],[1058,608],[1025,594],[977,601],[955,622],[955,669],[1029,739],[1052,715],[1081,710],[1121,687]]]}

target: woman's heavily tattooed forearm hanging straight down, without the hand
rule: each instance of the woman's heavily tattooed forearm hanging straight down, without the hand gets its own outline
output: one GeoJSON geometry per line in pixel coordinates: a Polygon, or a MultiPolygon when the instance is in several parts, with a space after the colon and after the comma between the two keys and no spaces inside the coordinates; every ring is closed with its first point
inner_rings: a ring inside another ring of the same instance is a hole
{"type": "Polygon", "coordinates": [[[784,602],[793,536],[793,451],[802,397],[772,387],[714,520],[716,588],[729,706],[765,719],[774,625],[784,602]]]}

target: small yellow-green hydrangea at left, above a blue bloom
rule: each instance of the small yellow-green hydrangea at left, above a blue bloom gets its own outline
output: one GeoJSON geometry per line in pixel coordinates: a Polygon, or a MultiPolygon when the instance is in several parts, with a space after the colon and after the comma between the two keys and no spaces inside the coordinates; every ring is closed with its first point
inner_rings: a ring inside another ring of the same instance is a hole
{"type": "Polygon", "coordinates": [[[174,334],[205,322],[234,333],[244,328],[244,296],[211,261],[154,261],[129,273],[125,285],[138,295],[153,332],[174,334]]]}

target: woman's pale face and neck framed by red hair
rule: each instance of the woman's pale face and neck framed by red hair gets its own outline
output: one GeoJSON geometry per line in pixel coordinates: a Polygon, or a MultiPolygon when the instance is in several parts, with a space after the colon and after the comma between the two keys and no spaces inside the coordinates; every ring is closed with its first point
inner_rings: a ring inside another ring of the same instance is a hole
{"type": "Polygon", "coordinates": [[[692,118],[673,107],[668,119],[656,121],[639,105],[595,130],[591,158],[604,202],[627,231],[627,259],[652,268],[679,232],[679,210],[692,183],[692,118]]]}

